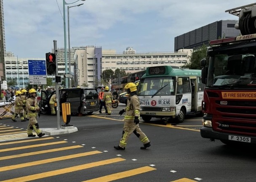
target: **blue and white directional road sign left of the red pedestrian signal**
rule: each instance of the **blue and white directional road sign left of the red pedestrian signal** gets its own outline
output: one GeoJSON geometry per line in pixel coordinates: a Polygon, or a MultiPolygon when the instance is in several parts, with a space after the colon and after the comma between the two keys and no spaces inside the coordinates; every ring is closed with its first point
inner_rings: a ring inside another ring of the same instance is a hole
{"type": "Polygon", "coordinates": [[[29,84],[46,85],[45,60],[28,60],[29,84]]]}

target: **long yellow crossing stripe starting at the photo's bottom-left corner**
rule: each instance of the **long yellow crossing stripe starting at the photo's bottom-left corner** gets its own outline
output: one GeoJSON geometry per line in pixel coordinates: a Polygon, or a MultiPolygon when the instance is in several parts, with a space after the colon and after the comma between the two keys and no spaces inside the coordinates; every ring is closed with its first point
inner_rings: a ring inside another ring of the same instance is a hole
{"type": "Polygon", "coordinates": [[[67,167],[67,168],[64,168],[64,169],[57,169],[57,170],[54,170],[54,171],[42,172],[42,173],[38,173],[38,174],[32,174],[32,175],[29,175],[29,176],[8,179],[8,180],[2,181],[2,182],[13,182],[13,181],[27,182],[27,181],[42,179],[42,178],[45,178],[45,177],[56,176],[56,175],[59,175],[59,174],[67,174],[69,172],[76,172],[76,171],[80,171],[80,170],[83,170],[83,169],[89,169],[89,168],[92,168],[92,167],[112,164],[112,163],[120,162],[120,161],[125,161],[125,159],[117,157],[117,158],[113,158],[113,159],[107,159],[107,160],[103,160],[103,161],[97,161],[97,162],[91,162],[91,163],[88,163],[88,164],[82,164],[82,165],[78,165],[78,166],[67,167]]]}

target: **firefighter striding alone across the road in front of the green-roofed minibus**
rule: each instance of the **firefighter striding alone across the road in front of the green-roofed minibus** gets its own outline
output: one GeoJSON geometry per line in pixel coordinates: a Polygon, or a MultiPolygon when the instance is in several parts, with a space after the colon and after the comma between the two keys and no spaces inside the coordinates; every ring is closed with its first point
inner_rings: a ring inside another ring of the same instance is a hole
{"type": "Polygon", "coordinates": [[[139,97],[137,96],[137,88],[134,83],[128,83],[125,85],[127,93],[129,94],[127,98],[127,106],[122,109],[119,114],[122,115],[125,112],[125,123],[123,126],[123,135],[118,146],[114,146],[117,150],[125,150],[127,141],[131,133],[134,133],[144,144],[141,149],[146,149],[151,146],[147,136],[141,131],[139,127],[139,117],[140,117],[140,105],[139,97]]]}

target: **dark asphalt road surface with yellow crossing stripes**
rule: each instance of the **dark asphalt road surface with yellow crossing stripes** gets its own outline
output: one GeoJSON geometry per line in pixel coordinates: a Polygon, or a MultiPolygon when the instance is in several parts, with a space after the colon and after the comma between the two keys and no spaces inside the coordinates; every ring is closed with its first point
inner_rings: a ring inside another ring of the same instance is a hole
{"type": "MultiPolygon", "coordinates": [[[[112,115],[72,116],[70,124],[77,132],[43,138],[3,141],[10,133],[26,135],[27,122],[0,120],[0,181],[255,181],[256,149],[201,138],[201,117],[167,125],[159,119],[141,120],[152,146],[141,150],[141,141],[131,135],[125,151],[115,150],[122,135],[123,116],[118,112],[123,107],[112,109],[112,115]]],[[[42,128],[57,127],[56,116],[41,115],[38,122],[42,128]]]]}

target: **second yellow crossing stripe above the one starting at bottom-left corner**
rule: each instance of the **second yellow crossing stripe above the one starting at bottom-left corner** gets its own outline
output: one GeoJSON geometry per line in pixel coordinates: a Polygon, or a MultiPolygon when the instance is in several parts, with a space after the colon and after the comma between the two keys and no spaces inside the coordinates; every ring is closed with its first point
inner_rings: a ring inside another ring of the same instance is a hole
{"type": "Polygon", "coordinates": [[[43,151],[21,153],[21,154],[16,154],[16,155],[12,155],[12,156],[3,156],[3,157],[0,157],[0,160],[14,159],[14,158],[25,157],[25,156],[34,156],[34,155],[38,155],[38,154],[42,154],[42,153],[64,151],[64,150],[75,149],[75,148],[80,148],[80,147],[83,147],[83,146],[69,146],[69,147],[62,147],[62,148],[53,148],[53,149],[43,150],[43,151]]]}

